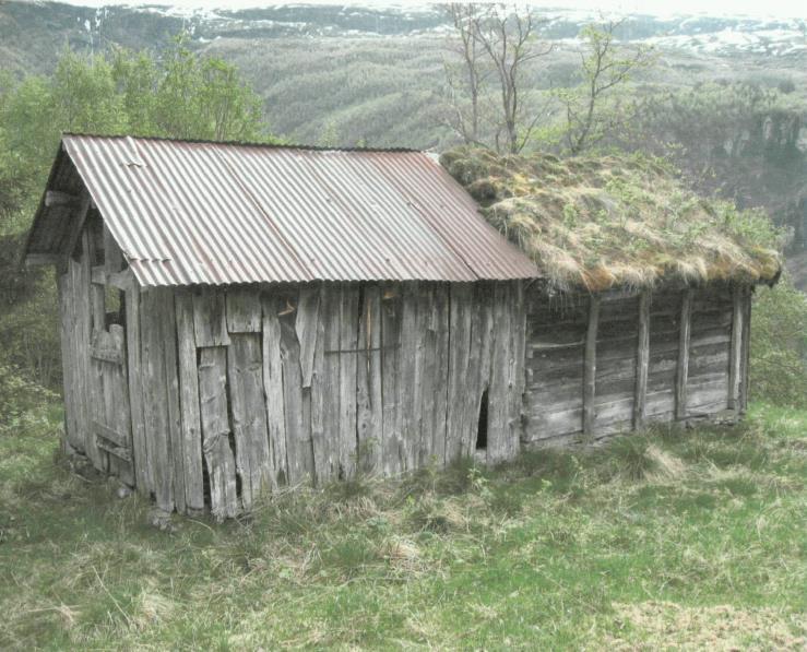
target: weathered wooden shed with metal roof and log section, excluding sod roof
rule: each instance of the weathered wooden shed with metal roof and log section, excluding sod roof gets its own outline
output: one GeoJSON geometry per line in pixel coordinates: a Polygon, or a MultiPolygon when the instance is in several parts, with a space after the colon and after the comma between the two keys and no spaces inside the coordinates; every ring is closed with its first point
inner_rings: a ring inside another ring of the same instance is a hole
{"type": "Polygon", "coordinates": [[[25,261],[57,269],[68,452],[227,518],[743,410],[759,280],[559,289],[489,222],[420,152],[63,137],[25,261]]]}

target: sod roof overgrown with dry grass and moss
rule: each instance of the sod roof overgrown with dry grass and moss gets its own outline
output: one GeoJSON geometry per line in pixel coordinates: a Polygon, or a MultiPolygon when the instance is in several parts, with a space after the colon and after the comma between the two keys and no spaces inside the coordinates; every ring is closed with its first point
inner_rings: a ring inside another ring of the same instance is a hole
{"type": "Polygon", "coordinates": [[[699,198],[657,159],[458,147],[440,162],[559,289],[755,283],[781,270],[780,235],[762,212],[699,198]]]}

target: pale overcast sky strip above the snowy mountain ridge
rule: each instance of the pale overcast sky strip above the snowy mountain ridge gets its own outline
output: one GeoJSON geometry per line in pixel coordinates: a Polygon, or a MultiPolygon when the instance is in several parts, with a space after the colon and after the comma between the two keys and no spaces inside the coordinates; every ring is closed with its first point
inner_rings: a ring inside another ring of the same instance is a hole
{"type": "MultiPolygon", "coordinates": [[[[192,8],[249,8],[281,4],[261,0],[67,0],[70,4],[84,7],[103,7],[109,4],[170,4],[186,9],[192,8]]],[[[371,7],[373,2],[336,1],[336,0],[292,0],[286,4],[360,4],[371,7]]],[[[382,0],[380,4],[424,5],[422,0],[382,0]]],[[[807,17],[807,0],[546,0],[532,2],[535,7],[565,7],[570,9],[588,9],[592,11],[620,13],[669,14],[710,14],[710,15],[752,15],[779,17],[807,17]]]]}

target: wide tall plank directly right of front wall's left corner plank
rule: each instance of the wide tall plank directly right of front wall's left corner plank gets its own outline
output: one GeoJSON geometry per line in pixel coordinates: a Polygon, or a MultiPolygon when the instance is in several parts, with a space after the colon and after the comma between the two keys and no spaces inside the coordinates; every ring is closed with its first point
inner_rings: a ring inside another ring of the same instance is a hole
{"type": "Polygon", "coordinates": [[[166,344],[163,330],[167,289],[151,289],[141,294],[140,345],[143,414],[150,475],[153,479],[157,507],[174,511],[174,460],[171,457],[170,415],[166,377],[166,344]]]}

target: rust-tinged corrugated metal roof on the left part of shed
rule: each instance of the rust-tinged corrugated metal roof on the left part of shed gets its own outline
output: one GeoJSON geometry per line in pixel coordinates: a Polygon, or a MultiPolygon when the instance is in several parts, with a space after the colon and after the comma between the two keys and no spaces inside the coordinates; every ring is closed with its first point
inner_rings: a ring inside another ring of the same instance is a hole
{"type": "Polygon", "coordinates": [[[66,135],[141,284],[537,275],[427,154],[66,135]]]}

